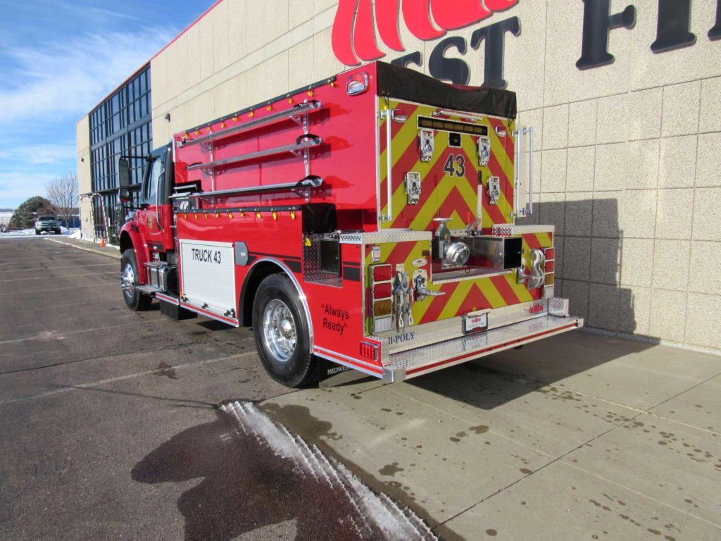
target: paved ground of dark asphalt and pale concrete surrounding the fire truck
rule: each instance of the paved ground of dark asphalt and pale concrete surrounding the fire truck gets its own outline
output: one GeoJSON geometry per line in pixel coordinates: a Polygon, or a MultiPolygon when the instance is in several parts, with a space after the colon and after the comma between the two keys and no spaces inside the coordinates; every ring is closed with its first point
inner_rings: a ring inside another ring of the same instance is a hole
{"type": "Polygon", "coordinates": [[[288,390],[248,329],[128,311],[118,266],[0,240],[2,540],[405,538],[260,421],[439,539],[721,539],[719,356],[575,332],[288,390]]]}

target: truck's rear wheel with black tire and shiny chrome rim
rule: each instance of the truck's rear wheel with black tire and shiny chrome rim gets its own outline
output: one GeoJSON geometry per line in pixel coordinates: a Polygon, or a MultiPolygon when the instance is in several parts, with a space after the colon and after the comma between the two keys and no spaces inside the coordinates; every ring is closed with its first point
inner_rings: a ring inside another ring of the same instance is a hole
{"type": "Polygon", "coordinates": [[[272,274],[260,283],[252,317],[255,347],[270,377],[286,387],[304,387],[318,379],[306,313],[286,275],[272,274]],[[292,347],[288,335],[294,336],[292,347]]]}

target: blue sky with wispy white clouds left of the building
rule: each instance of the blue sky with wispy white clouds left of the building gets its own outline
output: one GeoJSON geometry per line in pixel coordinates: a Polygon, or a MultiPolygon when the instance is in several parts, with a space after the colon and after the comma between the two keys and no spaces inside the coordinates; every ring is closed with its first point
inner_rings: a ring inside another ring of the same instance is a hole
{"type": "Polygon", "coordinates": [[[214,0],[0,0],[0,208],[77,169],[75,126],[214,0]]]}

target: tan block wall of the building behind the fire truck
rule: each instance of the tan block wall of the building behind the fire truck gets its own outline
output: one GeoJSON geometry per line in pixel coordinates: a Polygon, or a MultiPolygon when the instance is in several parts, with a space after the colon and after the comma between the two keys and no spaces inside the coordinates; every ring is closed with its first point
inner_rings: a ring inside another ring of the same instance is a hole
{"type": "MultiPolygon", "coordinates": [[[[696,43],[653,53],[658,1],[629,5],[632,29],[609,32],[615,61],[580,70],[585,3],[521,1],[448,36],[518,17],[503,74],[519,121],[534,126],[536,212],[556,226],[557,294],[590,327],[721,351],[721,40],[717,4],[691,2],[696,43]]],[[[680,3],[683,4],[683,3],[680,3]]],[[[155,144],[345,69],[332,50],[334,0],[222,0],[151,61],[155,144]],[[169,113],[169,120],[166,115],[169,113]]],[[[438,40],[399,24],[428,73],[438,40]]],[[[390,61],[404,53],[379,48],[390,61]]],[[[462,58],[481,84],[487,43],[462,58]]],[[[437,51],[436,51],[437,52],[437,51]]]]}

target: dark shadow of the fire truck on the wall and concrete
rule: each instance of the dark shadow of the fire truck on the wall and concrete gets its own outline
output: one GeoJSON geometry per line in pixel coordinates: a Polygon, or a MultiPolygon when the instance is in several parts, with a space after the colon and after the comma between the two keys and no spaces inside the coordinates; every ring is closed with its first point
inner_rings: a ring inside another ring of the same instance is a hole
{"type": "MultiPolygon", "coordinates": [[[[640,283],[642,278],[631,273],[638,274],[651,262],[624,258],[624,245],[634,245],[638,240],[624,239],[616,199],[543,202],[534,207],[533,216],[518,224],[555,226],[554,294],[569,299],[571,315],[583,317],[589,329],[618,335],[647,333],[650,283],[634,290],[620,284],[640,283]],[[629,268],[624,268],[624,262],[629,268]],[[637,299],[634,291],[643,298],[637,299]]],[[[603,348],[590,350],[588,335],[574,330],[527,344],[521,350],[502,351],[434,372],[411,383],[492,409],[655,343],[658,340],[609,338],[603,348]]]]}

